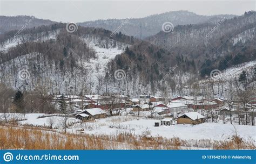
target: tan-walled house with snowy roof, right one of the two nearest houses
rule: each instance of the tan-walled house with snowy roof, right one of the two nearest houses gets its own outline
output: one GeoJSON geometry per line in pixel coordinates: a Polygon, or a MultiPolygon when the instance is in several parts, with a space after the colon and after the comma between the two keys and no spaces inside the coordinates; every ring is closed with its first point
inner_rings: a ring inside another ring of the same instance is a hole
{"type": "Polygon", "coordinates": [[[177,118],[177,124],[201,124],[204,123],[205,117],[198,112],[188,112],[177,118]]]}

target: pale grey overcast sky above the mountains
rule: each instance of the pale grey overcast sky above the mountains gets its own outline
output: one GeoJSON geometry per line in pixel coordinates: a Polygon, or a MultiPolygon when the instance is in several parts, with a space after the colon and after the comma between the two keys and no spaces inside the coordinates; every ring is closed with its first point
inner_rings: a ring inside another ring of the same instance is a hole
{"type": "Polygon", "coordinates": [[[57,22],[108,18],[140,18],[167,11],[188,10],[199,15],[234,14],[256,10],[256,1],[12,1],[0,0],[0,15],[31,15],[57,22]]]}

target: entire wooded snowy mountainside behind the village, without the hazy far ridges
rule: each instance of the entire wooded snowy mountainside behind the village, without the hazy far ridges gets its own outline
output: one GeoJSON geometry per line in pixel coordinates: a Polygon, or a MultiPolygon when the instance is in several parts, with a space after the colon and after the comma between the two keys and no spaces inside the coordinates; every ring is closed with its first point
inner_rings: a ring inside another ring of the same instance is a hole
{"type": "MultiPolygon", "coordinates": [[[[19,90],[44,87],[51,94],[191,95],[191,86],[203,83],[214,69],[225,75],[228,69],[244,69],[247,62],[250,69],[255,67],[255,12],[214,27],[211,23],[177,26],[175,32],[158,33],[154,41],[95,27],[78,26],[70,33],[62,23],[18,35],[10,31],[0,35],[0,82],[19,90]],[[214,35],[208,42],[200,39],[211,29],[214,35]],[[185,42],[178,39],[182,37],[185,42]],[[167,44],[170,41],[173,44],[167,44]]],[[[234,71],[235,76],[240,73],[234,71]]],[[[223,95],[224,87],[212,95],[223,95]]]]}

